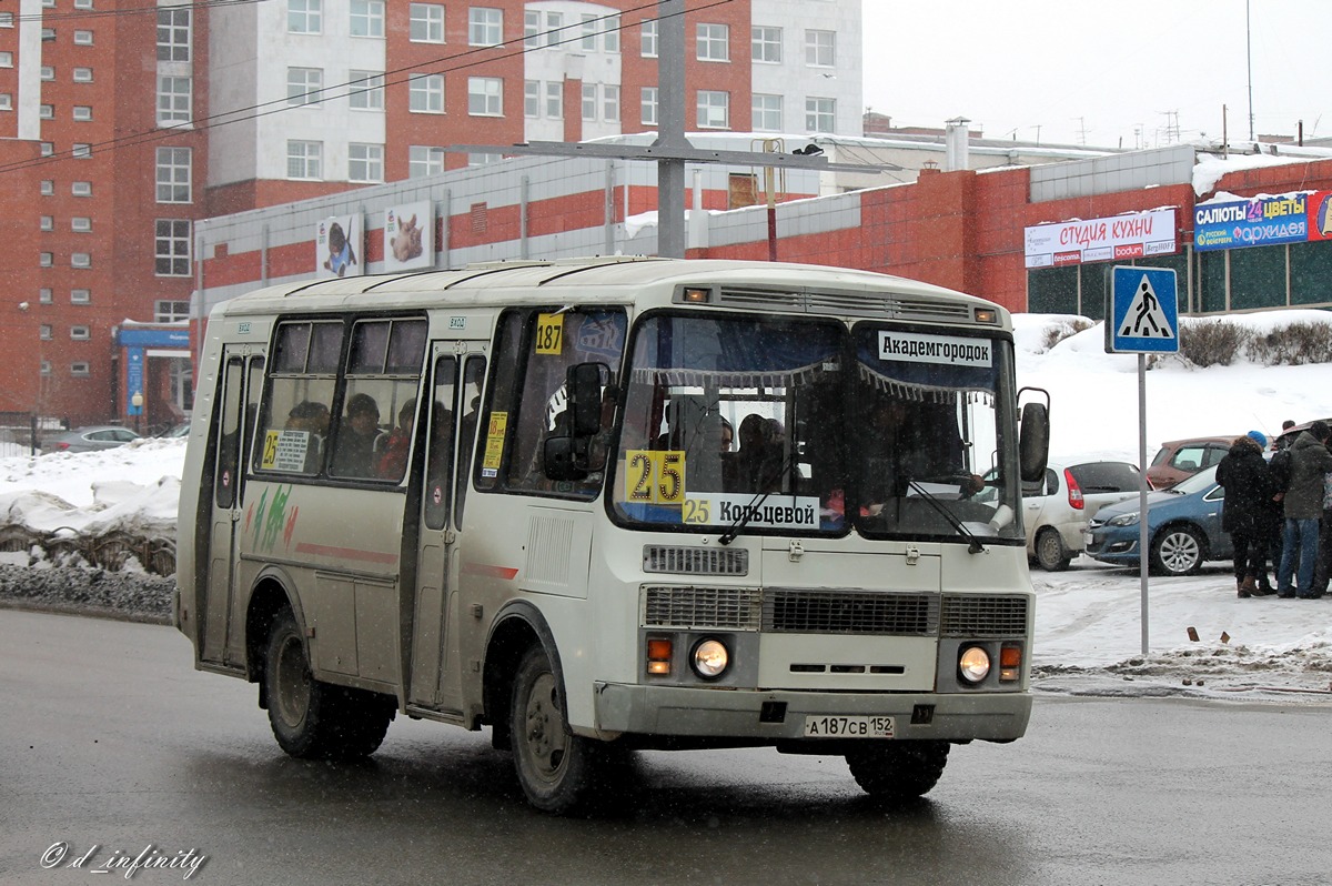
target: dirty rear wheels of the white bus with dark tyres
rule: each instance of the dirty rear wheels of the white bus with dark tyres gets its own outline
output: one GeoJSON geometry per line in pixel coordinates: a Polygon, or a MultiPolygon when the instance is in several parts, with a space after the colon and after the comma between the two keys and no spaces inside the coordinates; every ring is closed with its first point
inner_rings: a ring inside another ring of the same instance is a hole
{"type": "Polygon", "coordinates": [[[314,679],[305,638],[290,610],[273,620],[264,683],[273,735],[292,757],[369,757],[393,719],[394,707],[374,693],[314,679]]]}

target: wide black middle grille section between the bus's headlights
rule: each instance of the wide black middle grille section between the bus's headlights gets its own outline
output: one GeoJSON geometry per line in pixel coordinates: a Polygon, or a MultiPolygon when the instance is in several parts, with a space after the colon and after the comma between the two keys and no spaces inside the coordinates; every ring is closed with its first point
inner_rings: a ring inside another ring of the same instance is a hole
{"type": "Polygon", "coordinates": [[[932,637],[939,630],[939,596],[769,589],[763,630],[932,637]]]}

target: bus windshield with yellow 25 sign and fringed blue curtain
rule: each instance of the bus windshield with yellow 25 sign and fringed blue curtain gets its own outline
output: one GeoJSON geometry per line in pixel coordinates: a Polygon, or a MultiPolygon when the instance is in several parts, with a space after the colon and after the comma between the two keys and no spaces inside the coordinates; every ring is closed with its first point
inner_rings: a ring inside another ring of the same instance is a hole
{"type": "Polygon", "coordinates": [[[1011,376],[996,338],[650,316],[625,377],[613,513],[723,533],[1020,538],[1016,470],[994,464],[1015,434],[999,408],[1011,376]]]}

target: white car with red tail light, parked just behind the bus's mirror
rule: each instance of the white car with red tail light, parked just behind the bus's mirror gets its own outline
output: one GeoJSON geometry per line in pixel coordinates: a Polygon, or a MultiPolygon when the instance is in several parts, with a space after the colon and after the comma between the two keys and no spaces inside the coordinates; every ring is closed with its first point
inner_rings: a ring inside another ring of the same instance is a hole
{"type": "Polygon", "coordinates": [[[1047,572],[1068,569],[1082,553],[1091,516],[1136,496],[1140,486],[1142,472],[1127,461],[1047,465],[1042,482],[1022,489],[1027,556],[1047,572]]]}

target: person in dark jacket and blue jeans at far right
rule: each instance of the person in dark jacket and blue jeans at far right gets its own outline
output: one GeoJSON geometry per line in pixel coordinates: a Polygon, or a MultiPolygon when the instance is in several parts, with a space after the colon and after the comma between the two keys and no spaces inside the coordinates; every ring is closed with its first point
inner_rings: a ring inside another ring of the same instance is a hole
{"type": "Polygon", "coordinates": [[[1276,577],[1277,597],[1321,597],[1315,593],[1313,568],[1319,554],[1319,518],[1323,517],[1323,474],[1332,472],[1332,452],[1327,448],[1329,436],[1332,430],[1327,422],[1315,421],[1289,446],[1291,484],[1281,498],[1285,526],[1281,569],[1276,577]]]}

